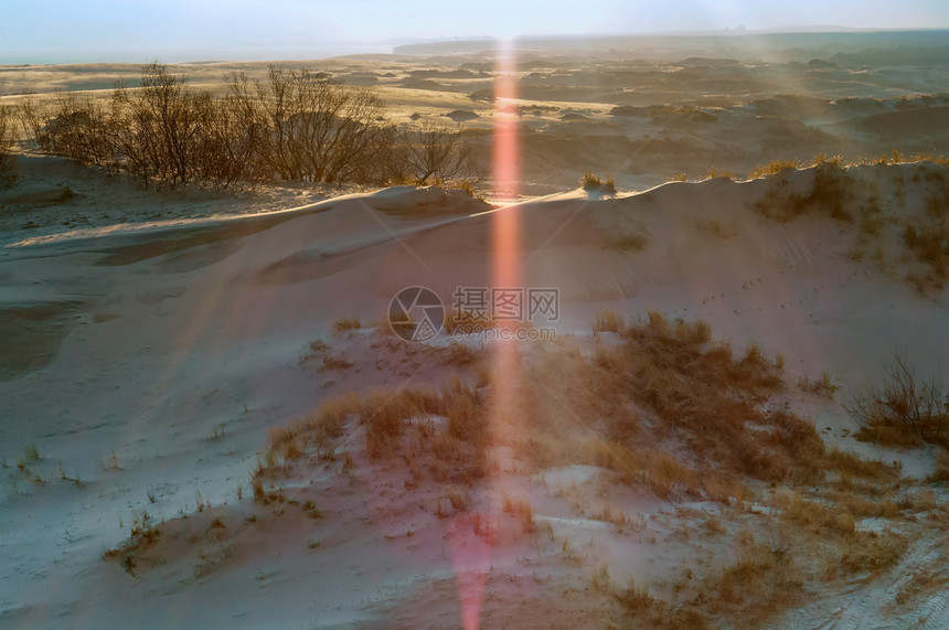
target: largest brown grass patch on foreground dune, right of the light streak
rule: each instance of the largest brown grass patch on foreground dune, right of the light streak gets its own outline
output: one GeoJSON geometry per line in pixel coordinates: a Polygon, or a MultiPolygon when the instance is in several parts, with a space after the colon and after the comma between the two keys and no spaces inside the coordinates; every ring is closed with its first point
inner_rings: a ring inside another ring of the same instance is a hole
{"type": "Polygon", "coordinates": [[[619,331],[621,345],[598,345],[590,360],[562,355],[550,375],[536,375],[557,383],[555,396],[527,383],[531,437],[522,448],[537,466],[588,463],[659,496],[723,502],[748,495],[743,476],[823,472],[813,425],[763,405],[782,382],[759,346],[736,360],[701,320],[671,322],[658,311],[639,324],[616,320],[600,313],[595,330],[619,331]]]}

